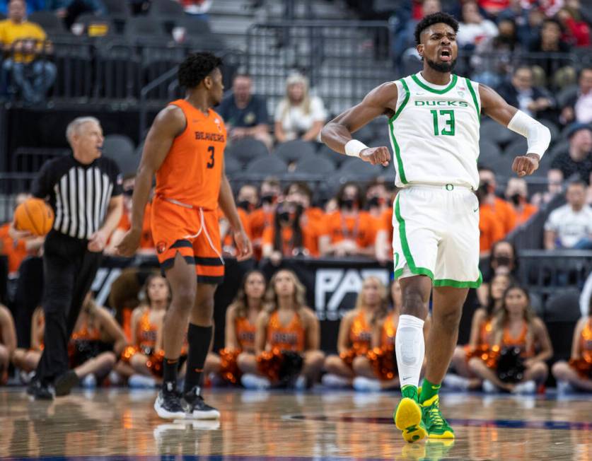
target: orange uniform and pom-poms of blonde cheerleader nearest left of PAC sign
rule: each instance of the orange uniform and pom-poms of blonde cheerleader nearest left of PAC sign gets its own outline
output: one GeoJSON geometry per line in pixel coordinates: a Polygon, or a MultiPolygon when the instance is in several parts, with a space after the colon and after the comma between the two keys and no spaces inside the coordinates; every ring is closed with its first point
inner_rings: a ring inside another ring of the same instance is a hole
{"type": "Polygon", "coordinates": [[[276,310],[272,313],[267,325],[269,350],[257,356],[257,370],[272,382],[284,380],[286,376],[298,373],[299,369],[295,370],[295,368],[302,366],[300,354],[305,348],[305,334],[304,326],[297,313],[294,313],[289,325],[284,327],[279,322],[279,314],[276,310]]]}

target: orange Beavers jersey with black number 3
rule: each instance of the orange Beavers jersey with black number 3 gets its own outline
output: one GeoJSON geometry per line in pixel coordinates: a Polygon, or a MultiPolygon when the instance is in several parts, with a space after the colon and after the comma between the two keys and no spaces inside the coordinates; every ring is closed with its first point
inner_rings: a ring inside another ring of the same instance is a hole
{"type": "Polygon", "coordinates": [[[204,115],[183,99],[170,105],[183,111],[187,123],[156,172],[156,195],[196,208],[215,210],[226,147],[222,117],[211,109],[208,115],[204,115]]]}

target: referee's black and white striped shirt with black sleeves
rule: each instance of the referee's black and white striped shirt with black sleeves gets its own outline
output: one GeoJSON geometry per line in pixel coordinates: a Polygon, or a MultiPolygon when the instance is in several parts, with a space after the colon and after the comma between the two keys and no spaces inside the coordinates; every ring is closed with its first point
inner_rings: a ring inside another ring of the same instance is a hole
{"type": "Polygon", "coordinates": [[[100,157],[85,165],[73,155],[53,158],[41,167],[33,195],[49,199],[55,214],[53,230],[88,239],[103,226],[112,197],[122,193],[115,161],[100,157]]]}

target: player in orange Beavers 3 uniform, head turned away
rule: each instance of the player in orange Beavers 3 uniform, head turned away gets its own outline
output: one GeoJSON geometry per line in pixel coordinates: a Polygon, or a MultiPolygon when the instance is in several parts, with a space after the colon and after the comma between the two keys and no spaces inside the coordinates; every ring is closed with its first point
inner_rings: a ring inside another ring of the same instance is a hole
{"type": "Polygon", "coordinates": [[[178,79],[187,90],[185,99],[170,103],[152,124],[132,196],[132,228],[117,245],[120,255],[132,256],[137,250],[156,174],[152,235],[173,291],[163,327],[163,386],[154,404],[161,418],[220,416],[204,403],[200,387],[211,342],[214,291],[224,279],[218,207],[231,225],[237,259],[253,252],[224,174],[226,128],[211,109],[222,100],[221,65],[221,59],[207,52],[189,54],[180,64],[178,79]],[[189,354],[180,395],[177,369],[187,321],[189,354]]]}

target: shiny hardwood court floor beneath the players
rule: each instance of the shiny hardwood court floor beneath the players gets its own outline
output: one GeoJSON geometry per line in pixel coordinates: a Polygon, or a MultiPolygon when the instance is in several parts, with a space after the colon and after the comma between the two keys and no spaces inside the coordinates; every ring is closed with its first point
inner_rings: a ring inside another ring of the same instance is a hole
{"type": "Polygon", "coordinates": [[[414,444],[393,425],[397,394],[208,390],[207,402],[221,410],[221,420],[195,423],[158,419],[154,396],[77,391],[32,402],[22,389],[0,389],[0,458],[592,460],[592,395],[445,393],[442,407],[456,440],[414,444]]]}

